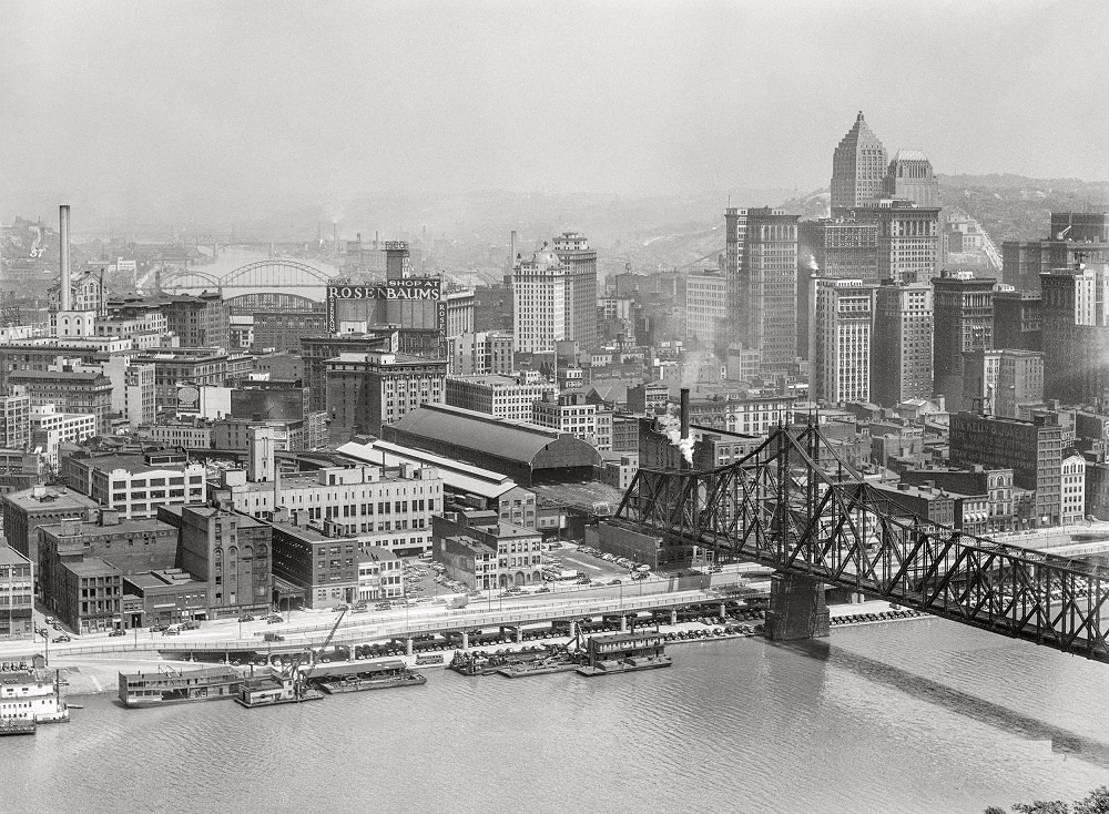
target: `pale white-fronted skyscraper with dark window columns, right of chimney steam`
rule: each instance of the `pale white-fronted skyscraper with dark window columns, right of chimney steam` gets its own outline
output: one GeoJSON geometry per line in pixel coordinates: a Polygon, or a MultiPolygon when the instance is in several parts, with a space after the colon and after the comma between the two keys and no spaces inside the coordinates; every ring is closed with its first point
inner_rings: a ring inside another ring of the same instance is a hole
{"type": "Polygon", "coordinates": [[[861,279],[818,279],[813,325],[812,397],[871,400],[873,291],[861,279]]]}

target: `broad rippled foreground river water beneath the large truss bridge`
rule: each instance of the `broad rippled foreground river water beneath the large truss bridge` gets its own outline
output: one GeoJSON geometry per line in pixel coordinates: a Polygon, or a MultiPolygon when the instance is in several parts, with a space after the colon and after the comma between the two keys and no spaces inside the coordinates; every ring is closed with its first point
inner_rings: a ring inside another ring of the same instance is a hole
{"type": "Polygon", "coordinates": [[[669,652],[261,710],[81,699],[0,739],[0,811],[935,814],[1109,784],[1109,665],[938,619],[669,652]]]}

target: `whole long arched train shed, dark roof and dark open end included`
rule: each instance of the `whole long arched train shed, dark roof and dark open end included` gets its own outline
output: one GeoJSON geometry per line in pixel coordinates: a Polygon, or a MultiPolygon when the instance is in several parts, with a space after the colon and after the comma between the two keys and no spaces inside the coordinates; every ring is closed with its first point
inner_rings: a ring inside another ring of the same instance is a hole
{"type": "Polygon", "coordinates": [[[425,404],[381,428],[385,440],[457,458],[521,486],[588,480],[600,454],[568,433],[485,413],[425,404]]]}

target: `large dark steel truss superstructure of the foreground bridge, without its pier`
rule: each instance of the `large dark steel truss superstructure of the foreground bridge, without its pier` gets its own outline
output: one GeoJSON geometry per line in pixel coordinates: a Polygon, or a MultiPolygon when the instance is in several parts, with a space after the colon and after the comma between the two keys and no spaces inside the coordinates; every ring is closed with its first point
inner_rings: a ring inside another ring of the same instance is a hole
{"type": "Polygon", "coordinates": [[[641,469],[613,522],[1109,662],[1109,568],[916,517],[816,427],[779,429],[719,469],[641,469]]]}

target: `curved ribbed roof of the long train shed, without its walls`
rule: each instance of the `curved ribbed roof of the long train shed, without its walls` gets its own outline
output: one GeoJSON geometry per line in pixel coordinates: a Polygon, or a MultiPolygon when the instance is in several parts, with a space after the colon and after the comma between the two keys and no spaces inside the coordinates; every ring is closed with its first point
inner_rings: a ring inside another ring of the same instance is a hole
{"type": "Polygon", "coordinates": [[[540,452],[556,444],[563,448],[576,445],[583,447],[580,451],[586,459],[581,466],[591,466],[593,458],[600,460],[600,455],[593,447],[569,434],[448,405],[425,404],[409,410],[389,427],[399,433],[419,436],[433,444],[439,442],[444,447],[478,449],[486,455],[528,466],[532,465],[540,452]]]}

